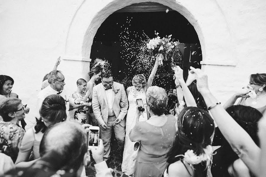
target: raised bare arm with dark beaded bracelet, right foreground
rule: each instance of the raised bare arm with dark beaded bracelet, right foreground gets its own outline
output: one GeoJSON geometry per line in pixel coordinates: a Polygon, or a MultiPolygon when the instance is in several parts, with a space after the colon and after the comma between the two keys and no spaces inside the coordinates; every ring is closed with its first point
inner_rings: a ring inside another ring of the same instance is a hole
{"type": "Polygon", "coordinates": [[[191,70],[197,75],[197,88],[203,96],[206,105],[208,107],[211,106],[210,112],[223,136],[250,171],[258,174],[259,164],[257,164],[257,159],[260,156],[259,147],[254,143],[249,134],[225,111],[223,106],[216,104],[218,103],[217,99],[209,91],[207,75],[200,69],[191,67],[191,70]]]}

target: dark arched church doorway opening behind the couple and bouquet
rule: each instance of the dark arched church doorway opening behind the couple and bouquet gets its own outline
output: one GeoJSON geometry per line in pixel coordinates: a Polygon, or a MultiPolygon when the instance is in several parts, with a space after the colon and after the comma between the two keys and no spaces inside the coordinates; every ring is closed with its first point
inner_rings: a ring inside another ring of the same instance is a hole
{"type": "MultiPolygon", "coordinates": [[[[154,65],[150,53],[141,52],[143,41],[159,36],[172,35],[173,41],[181,43],[174,57],[174,63],[184,70],[201,68],[201,45],[194,27],[178,12],[158,3],[139,3],[124,7],[111,14],[99,27],[91,47],[90,58],[108,60],[112,65],[114,81],[122,83],[125,89],[132,85],[136,74],[149,77],[154,65]]],[[[152,85],[169,91],[174,88],[170,62],[159,66],[152,85]]]]}

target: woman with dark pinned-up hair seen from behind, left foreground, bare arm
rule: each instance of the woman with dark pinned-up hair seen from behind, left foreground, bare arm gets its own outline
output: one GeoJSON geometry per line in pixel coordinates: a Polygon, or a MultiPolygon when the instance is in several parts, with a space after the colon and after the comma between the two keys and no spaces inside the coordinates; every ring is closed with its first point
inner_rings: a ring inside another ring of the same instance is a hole
{"type": "Polygon", "coordinates": [[[60,95],[47,96],[41,105],[40,115],[39,119],[36,118],[36,125],[27,130],[22,139],[19,147],[20,152],[15,163],[17,167],[30,166],[36,159],[40,158],[39,146],[44,132],[48,127],[67,118],[65,99],[60,95]],[[33,151],[33,159],[35,160],[28,162],[31,151],[33,151]]]}

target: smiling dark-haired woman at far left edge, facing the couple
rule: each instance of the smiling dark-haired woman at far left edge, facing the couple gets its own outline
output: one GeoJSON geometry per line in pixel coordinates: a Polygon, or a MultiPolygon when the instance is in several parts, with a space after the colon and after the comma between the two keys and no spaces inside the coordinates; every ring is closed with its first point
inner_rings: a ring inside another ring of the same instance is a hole
{"type": "MultiPolygon", "coordinates": [[[[12,93],[12,87],[14,80],[10,76],[0,75],[0,102],[4,101],[7,98],[18,98],[18,95],[12,93]]],[[[25,113],[28,114],[30,108],[25,108],[25,113]]],[[[25,130],[26,122],[24,119],[20,120],[22,128],[25,130]]]]}

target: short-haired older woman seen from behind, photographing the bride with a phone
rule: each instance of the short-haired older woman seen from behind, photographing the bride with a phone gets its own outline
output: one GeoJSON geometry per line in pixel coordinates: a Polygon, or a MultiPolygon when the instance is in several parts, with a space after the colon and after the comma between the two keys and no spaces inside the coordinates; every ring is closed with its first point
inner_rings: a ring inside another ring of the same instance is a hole
{"type": "Polygon", "coordinates": [[[164,114],[167,100],[165,89],[151,86],[146,92],[150,119],[138,122],[141,113],[136,109],[133,120],[133,124],[136,123],[136,125],[129,133],[131,141],[140,143],[135,162],[135,177],[161,177],[166,169],[166,153],[173,145],[176,132],[175,118],[173,115],[164,114]]]}

